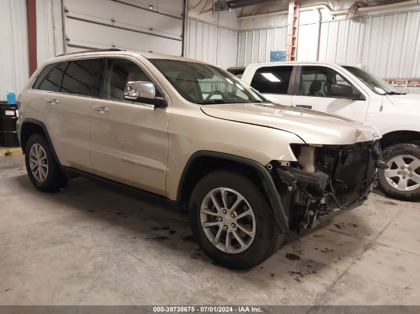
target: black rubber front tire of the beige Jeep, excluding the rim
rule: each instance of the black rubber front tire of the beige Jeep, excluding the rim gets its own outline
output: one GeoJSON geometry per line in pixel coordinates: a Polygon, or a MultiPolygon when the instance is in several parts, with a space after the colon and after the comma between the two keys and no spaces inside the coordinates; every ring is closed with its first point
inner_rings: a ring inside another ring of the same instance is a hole
{"type": "Polygon", "coordinates": [[[277,251],[284,238],[260,189],[247,176],[231,171],[214,171],[197,183],[191,194],[189,215],[194,238],[201,250],[217,263],[232,269],[248,269],[262,263],[277,251]],[[204,197],[211,190],[222,187],[231,188],[244,196],[254,213],[254,239],[245,251],[239,253],[227,253],[216,248],[201,226],[200,209],[204,197]]]}

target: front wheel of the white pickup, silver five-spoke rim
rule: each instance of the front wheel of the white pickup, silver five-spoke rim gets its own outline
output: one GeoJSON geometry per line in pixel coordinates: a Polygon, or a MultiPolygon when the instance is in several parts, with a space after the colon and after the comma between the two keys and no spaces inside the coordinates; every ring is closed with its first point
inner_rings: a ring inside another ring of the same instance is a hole
{"type": "Polygon", "coordinates": [[[420,147],[413,143],[394,144],[384,150],[388,169],[378,170],[380,189],[401,200],[420,199],[420,147]]]}

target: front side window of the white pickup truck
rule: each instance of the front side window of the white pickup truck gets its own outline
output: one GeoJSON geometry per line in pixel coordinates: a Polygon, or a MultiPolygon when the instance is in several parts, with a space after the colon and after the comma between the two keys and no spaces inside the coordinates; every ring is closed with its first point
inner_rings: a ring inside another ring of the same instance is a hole
{"type": "MultiPolygon", "coordinates": [[[[333,84],[353,86],[336,70],[326,66],[302,66],[299,95],[315,97],[332,97],[333,84]]],[[[353,93],[357,93],[357,89],[353,93]]]]}

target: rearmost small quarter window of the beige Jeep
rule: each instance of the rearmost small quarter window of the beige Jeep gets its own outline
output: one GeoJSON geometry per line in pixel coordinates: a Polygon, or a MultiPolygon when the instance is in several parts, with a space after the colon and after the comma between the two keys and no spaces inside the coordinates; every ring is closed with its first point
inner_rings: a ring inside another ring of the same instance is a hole
{"type": "Polygon", "coordinates": [[[60,91],[61,80],[67,65],[67,62],[48,64],[39,74],[33,88],[52,92],[60,91]]]}

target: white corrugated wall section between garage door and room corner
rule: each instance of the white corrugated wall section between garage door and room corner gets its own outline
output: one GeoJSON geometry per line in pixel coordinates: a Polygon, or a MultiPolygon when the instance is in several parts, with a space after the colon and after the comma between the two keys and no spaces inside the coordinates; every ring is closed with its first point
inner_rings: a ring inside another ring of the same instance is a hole
{"type": "Polygon", "coordinates": [[[184,45],[186,58],[217,64],[224,69],[237,63],[236,30],[187,17],[184,45]]]}

